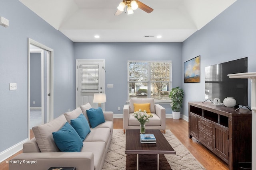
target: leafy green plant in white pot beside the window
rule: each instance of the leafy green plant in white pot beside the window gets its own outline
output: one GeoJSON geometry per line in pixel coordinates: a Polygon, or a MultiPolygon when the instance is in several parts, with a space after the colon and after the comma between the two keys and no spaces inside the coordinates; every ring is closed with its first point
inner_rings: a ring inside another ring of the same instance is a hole
{"type": "Polygon", "coordinates": [[[169,94],[171,98],[172,117],[180,119],[180,108],[182,108],[184,92],[180,87],[172,88],[169,94]]]}

